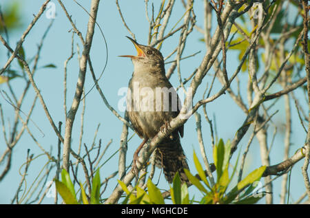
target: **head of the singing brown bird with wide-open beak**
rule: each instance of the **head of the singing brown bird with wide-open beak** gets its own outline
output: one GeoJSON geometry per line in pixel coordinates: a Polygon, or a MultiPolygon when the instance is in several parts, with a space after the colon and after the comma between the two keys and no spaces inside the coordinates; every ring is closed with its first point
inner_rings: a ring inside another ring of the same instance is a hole
{"type": "Polygon", "coordinates": [[[134,47],[136,47],[136,51],[138,54],[136,56],[133,55],[121,55],[120,57],[132,58],[132,63],[134,63],[135,68],[140,67],[163,67],[164,60],[161,52],[156,50],[154,47],[150,47],[147,45],[140,45],[134,39],[126,36],[132,43],[134,47]]]}

